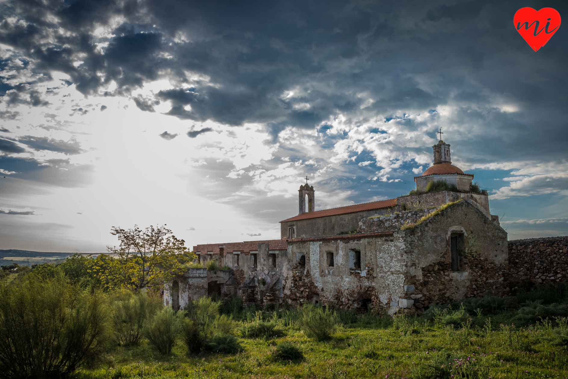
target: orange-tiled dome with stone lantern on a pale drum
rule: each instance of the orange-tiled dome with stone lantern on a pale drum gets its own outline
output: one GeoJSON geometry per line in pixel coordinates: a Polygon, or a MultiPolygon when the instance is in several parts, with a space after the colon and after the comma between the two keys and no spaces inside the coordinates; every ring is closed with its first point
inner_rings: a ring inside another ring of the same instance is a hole
{"type": "Polygon", "coordinates": [[[450,144],[439,140],[433,145],[434,163],[421,176],[415,176],[416,189],[425,191],[428,183],[435,180],[445,180],[448,185],[456,185],[460,191],[468,191],[473,174],[466,174],[452,164],[450,144]]]}

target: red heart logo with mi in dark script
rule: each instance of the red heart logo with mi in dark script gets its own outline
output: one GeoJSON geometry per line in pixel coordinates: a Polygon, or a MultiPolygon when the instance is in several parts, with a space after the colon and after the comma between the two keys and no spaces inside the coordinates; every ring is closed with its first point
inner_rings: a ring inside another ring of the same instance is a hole
{"type": "Polygon", "coordinates": [[[560,14],[554,8],[542,8],[537,11],[525,7],[515,13],[513,23],[529,46],[538,51],[560,27],[560,14]]]}

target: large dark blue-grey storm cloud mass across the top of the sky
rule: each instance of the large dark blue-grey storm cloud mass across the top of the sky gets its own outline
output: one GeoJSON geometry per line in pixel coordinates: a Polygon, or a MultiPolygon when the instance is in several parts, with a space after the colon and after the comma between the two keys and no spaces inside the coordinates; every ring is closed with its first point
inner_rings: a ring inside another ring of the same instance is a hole
{"type": "MultiPolygon", "coordinates": [[[[512,26],[519,7],[514,1],[20,1],[3,5],[0,42],[20,54],[25,69],[45,78],[64,72],[86,95],[102,94],[115,81],[115,92],[104,94],[130,97],[149,81],[167,79],[174,88],[154,99],[134,97],[136,106],[153,111],[163,101],[171,104],[166,114],[180,119],[264,123],[274,140],[288,126],[314,128],[339,115],[357,125],[449,106],[446,136],[469,148],[463,157],[512,160],[525,148],[553,143],[546,157],[532,159],[563,159],[566,34],[560,29],[534,53],[512,26]],[[115,16],[124,22],[110,37],[94,34],[115,16]],[[503,111],[504,105],[517,110],[503,111]],[[530,132],[533,126],[542,132],[530,132]]],[[[565,3],[554,7],[568,10],[565,3]]],[[[6,103],[47,101],[32,84],[10,86],[6,103]]]]}

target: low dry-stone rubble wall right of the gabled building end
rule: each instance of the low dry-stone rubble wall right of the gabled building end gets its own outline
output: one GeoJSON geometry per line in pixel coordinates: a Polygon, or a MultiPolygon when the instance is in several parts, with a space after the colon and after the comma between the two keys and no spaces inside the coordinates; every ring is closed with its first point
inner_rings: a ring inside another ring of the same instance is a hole
{"type": "Polygon", "coordinates": [[[566,281],[568,236],[509,241],[511,282],[566,281]]]}

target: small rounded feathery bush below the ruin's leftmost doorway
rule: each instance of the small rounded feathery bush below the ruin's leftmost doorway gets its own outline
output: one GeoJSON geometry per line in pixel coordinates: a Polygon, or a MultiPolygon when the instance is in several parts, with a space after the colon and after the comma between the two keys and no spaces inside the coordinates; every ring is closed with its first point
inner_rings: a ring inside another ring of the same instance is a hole
{"type": "Polygon", "coordinates": [[[181,331],[185,311],[166,307],[144,324],[143,334],[160,354],[169,354],[181,331]]]}

